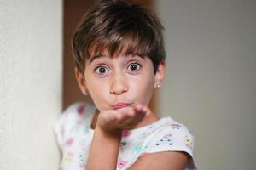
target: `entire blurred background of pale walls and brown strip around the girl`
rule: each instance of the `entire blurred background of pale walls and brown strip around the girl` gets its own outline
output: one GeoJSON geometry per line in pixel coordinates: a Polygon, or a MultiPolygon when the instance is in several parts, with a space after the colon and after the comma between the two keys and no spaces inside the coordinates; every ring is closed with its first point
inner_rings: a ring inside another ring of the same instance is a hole
{"type": "MultiPolygon", "coordinates": [[[[0,169],[58,169],[53,126],[91,102],[74,79],[73,30],[93,0],[0,0],[0,169]]],[[[165,26],[167,75],[150,107],[195,136],[198,169],[255,169],[256,1],[134,0],[165,26]]]]}

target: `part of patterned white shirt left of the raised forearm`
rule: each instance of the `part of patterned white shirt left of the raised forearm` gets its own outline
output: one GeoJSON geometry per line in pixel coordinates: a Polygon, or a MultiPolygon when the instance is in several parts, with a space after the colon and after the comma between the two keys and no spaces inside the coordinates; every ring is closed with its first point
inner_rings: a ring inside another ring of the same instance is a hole
{"type": "Polygon", "coordinates": [[[84,169],[89,150],[91,118],[95,105],[77,102],[67,107],[55,122],[55,137],[61,150],[61,169],[84,169]]]}

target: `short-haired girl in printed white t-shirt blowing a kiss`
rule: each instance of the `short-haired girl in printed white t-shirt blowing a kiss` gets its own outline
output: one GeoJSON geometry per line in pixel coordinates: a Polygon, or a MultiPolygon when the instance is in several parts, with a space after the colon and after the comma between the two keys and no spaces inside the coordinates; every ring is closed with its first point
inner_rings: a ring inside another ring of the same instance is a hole
{"type": "Polygon", "coordinates": [[[73,36],[75,77],[83,102],[55,124],[62,169],[193,169],[193,136],[148,109],[164,81],[163,26],[148,9],[98,1],[73,36]]]}

